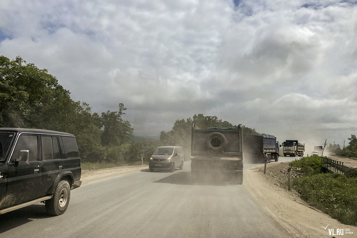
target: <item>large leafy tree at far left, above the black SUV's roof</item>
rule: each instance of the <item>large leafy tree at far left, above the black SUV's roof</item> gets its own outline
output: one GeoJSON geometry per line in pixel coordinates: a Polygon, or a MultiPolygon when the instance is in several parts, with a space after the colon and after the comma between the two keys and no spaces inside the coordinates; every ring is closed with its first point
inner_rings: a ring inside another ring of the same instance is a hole
{"type": "Polygon", "coordinates": [[[30,114],[56,97],[69,97],[46,69],[26,64],[20,56],[0,56],[0,126],[30,127],[30,114]]]}

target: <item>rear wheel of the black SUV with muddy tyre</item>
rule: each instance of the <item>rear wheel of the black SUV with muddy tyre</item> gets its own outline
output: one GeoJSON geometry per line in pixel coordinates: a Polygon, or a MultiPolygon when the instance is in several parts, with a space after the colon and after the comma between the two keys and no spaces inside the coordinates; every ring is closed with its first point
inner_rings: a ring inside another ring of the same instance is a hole
{"type": "Polygon", "coordinates": [[[63,214],[68,207],[70,198],[71,187],[66,180],[62,180],[58,183],[52,198],[46,200],[46,212],[54,216],[63,214]]]}

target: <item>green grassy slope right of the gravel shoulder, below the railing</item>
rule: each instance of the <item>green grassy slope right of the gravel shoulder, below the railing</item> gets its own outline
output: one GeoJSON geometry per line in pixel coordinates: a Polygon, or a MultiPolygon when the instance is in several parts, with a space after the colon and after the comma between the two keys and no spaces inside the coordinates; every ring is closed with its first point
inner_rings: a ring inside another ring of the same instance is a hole
{"type": "Polygon", "coordinates": [[[293,188],[311,206],[343,224],[357,226],[357,178],[337,173],[323,173],[318,156],[290,163],[305,174],[293,179],[293,188]]]}

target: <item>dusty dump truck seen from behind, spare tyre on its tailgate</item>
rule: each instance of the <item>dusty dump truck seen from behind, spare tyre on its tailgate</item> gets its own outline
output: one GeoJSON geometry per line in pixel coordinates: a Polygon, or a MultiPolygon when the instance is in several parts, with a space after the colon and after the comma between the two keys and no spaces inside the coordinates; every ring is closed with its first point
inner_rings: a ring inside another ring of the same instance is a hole
{"type": "Polygon", "coordinates": [[[242,126],[201,129],[193,124],[191,132],[191,177],[222,176],[243,183],[242,126]]]}

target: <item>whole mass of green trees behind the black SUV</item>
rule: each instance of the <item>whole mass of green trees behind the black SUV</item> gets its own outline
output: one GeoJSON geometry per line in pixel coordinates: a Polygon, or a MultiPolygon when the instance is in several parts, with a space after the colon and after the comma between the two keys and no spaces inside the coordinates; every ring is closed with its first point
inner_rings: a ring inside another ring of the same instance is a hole
{"type": "Polygon", "coordinates": [[[0,127],[71,133],[83,161],[122,162],[129,147],[119,146],[130,142],[134,130],[121,118],[125,110],[119,103],[119,111],[92,114],[88,103],[73,101],[46,69],[27,64],[20,56],[0,56],[0,127]]]}

